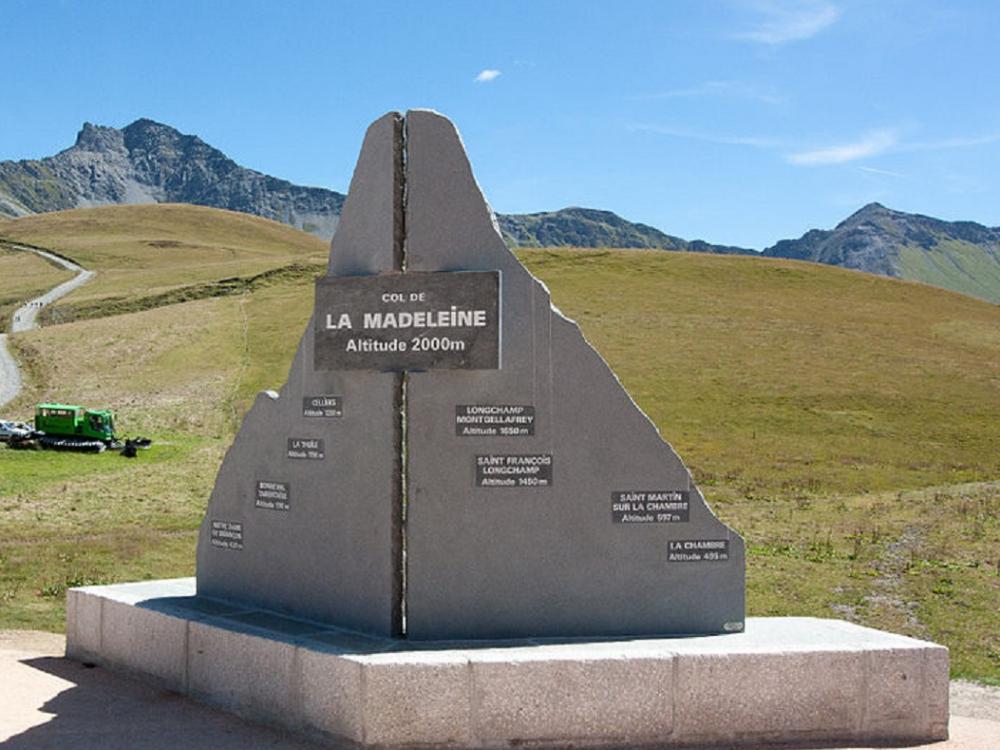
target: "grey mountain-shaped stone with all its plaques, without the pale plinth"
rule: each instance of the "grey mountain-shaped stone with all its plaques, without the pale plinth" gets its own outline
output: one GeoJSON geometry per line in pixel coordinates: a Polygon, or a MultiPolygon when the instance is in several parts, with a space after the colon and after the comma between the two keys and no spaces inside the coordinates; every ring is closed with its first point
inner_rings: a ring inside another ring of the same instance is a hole
{"type": "Polygon", "coordinates": [[[315,295],[199,593],[423,640],[743,629],[742,538],[504,245],[447,119],[369,128],[315,295]]]}

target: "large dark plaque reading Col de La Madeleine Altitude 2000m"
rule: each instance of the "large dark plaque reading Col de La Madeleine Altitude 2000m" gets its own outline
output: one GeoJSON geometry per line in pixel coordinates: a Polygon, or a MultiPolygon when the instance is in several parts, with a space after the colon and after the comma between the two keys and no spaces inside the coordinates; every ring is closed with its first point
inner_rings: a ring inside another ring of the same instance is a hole
{"type": "Polygon", "coordinates": [[[500,274],[322,278],[315,336],[317,370],[495,370],[500,274]]]}

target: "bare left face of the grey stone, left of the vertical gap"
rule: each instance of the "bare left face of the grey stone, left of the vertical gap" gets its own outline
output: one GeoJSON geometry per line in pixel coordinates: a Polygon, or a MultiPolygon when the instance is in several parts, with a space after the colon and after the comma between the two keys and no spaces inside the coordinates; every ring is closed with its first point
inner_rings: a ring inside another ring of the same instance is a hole
{"type": "MultiPolygon", "coordinates": [[[[331,273],[398,265],[401,138],[395,113],[369,128],[331,273]]],[[[280,394],[257,397],[219,471],[198,542],[199,593],[372,633],[398,631],[400,377],[317,371],[307,326],[280,394]],[[339,398],[342,416],[305,416],[311,396],[339,398]],[[291,439],[322,441],[323,458],[290,458],[291,439]],[[258,504],[261,481],[288,486],[287,510],[258,504]],[[213,538],[213,522],[224,523],[227,536],[213,538]]]]}

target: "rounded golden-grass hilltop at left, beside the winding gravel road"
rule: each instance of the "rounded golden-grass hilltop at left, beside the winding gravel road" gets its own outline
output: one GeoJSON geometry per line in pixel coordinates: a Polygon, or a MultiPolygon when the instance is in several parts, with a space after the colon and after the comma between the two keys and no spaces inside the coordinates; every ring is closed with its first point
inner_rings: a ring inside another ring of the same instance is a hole
{"type": "Polygon", "coordinates": [[[180,204],[26,216],[0,225],[0,237],[52,248],[98,272],[49,313],[60,322],[224,293],[231,289],[212,285],[232,279],[240,287],[275,269],[311,275],[328,251],[324,240],[284,224],[180,204]]]}

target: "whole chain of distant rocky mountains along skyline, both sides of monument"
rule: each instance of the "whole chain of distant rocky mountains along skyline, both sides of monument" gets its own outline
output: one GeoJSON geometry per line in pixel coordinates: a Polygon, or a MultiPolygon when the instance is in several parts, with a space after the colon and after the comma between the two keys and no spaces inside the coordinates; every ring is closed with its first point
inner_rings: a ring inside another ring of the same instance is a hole
{"type": "MultiPolygon", "coordinates": [[[[198,136],[149,118],[120,129],[85,122],[73,145],[54,156],[0,162],[0,219],[99,205],[186,203],[261,216],[329,239],[344,198],[241,166],[198,136]]],[[[594,208],[496,218],[511,246],[758,254],[685,240],[594,208]]],[[[760,254],[922,281],[1000,303],[1000,227],[972,221],[869,203],[832,229],[810,229],[760,254]]]]}

